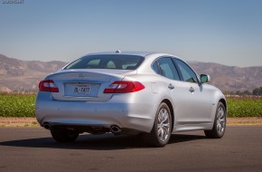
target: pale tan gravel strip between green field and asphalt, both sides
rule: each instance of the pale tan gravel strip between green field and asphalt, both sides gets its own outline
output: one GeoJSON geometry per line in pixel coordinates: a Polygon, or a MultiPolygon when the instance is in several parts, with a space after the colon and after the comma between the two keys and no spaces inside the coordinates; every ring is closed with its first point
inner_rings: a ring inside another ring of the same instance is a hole
{"type": "MultiPolygon", "coordinates": [[[[228,125],[262,125],[262,118],[228,118],[228,125]]],[[[40,127],[35,118],[0,117],[0,127],[40,127]]]]}

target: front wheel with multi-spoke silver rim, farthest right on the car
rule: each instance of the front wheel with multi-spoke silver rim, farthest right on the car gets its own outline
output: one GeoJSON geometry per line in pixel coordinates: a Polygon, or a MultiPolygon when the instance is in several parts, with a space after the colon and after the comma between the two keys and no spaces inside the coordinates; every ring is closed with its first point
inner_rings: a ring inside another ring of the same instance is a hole
{"type": "Polygon", "coordinates": [[[227,110],[222,102],[219,102],[216,111],[213,128],[205,130],[205,135],[210,139],[220,139],[224,136],[227,125],[227,110]]]}

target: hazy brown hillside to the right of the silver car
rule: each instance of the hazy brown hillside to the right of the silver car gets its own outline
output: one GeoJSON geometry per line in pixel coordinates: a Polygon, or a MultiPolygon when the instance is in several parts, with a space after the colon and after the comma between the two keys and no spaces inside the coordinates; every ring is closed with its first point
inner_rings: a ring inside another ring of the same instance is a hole
{"type": "Polygon", "coordinates": [[[253,91],[262,86],[262,66],[240,68],[213,62],[189,62],[198,73],[211,76],[211,84],[222,91],[253,91]]]}

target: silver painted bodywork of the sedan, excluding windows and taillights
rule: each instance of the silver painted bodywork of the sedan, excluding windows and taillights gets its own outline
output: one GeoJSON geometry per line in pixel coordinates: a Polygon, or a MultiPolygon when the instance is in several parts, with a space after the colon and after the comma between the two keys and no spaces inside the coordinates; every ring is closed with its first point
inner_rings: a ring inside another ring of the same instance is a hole
{"type": "MultiPolygon", "coordinates": [[[[172,126],[173,132],[212,129],[217,104],[220,100],[226,100],[219,89],[207,83],[173,81],[156,74],[151,68],[152,63],[161,56],[178,58],[171,54],[134,52],[117,54],[143,55],[145,61],[134,71],[61,69],[47,76],[46,80],[53,80],[59,92],[38,92],[35,106],[38,122],[41,125],[48,122],[51,125],[105,128],[117,125],[119,128],[150,132],[156,111],[165,100],[173,107],[173,121],[168,121],[169,127],[166,126],[165,120],[159,121],[161,138],[164,139],[163,133],[167,129],[172,129],[172,126]],[[145,89],[124,94],[103,93],[110,83],[119,80],[140,81],[145,89]],[[68,82],[98,83],[99,87],[90,97],[66,96],[64,85],[68,82]],[[191,88],[194,91],[191,92],[191,88]],[[171,122],[173,125],[170,125],[171,122]]],[[[223,129],[223,121],[218,118],[219,129],[223,129]]]]}

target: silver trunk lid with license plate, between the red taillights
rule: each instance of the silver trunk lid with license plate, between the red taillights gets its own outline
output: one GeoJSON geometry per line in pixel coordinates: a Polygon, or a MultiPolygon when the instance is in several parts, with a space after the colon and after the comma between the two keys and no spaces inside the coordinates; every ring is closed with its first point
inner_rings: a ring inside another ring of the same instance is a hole
{"type": "Polygon", "coordinates": [[[122,81],[129,70],[61,70],[46,79],[54,81],[59,92],[51,92],[54,100],[107,101],[112,94],[104,93],[114,81],[122,81]]]}

